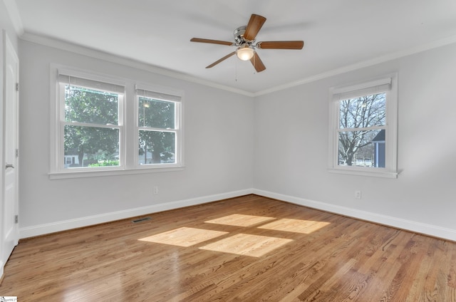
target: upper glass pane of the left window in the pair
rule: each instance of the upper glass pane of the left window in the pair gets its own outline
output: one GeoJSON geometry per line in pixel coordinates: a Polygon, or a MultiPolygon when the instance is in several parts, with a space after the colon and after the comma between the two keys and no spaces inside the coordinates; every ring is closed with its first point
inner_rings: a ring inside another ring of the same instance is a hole
{"type": "Polygon", "coordinates": [[[65,85],[66,122],[118,125],[119,95],[65,85]]]}

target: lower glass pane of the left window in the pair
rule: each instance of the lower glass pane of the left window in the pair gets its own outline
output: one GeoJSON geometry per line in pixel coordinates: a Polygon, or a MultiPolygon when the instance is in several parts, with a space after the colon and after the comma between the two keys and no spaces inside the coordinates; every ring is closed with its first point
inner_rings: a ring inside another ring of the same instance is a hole
{"type": "Polygon", "coordinates": [[[65,157],[72,159],[65,168],[120,165],[118,129],[66,125],[64,132],[65,157]]]}

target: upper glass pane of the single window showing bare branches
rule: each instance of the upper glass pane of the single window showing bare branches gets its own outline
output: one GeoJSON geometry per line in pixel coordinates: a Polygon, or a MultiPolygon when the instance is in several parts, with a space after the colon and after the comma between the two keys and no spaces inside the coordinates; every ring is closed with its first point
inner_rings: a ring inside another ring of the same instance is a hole
{"type": "Polygon", "coordinates": [[[386,93],[379,93],[341,100],[339,106],[339,128],[353,129],[385,125],[385,97],[386,93]]]}

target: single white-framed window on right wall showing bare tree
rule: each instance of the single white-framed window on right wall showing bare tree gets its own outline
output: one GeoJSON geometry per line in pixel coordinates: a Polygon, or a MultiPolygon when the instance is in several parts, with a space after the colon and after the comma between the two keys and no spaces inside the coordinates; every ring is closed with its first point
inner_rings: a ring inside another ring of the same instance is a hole
{"type": "Polygon", "coordinates": [[[397,177],[397,75],[330,94],[330,172],[397,177]]]}

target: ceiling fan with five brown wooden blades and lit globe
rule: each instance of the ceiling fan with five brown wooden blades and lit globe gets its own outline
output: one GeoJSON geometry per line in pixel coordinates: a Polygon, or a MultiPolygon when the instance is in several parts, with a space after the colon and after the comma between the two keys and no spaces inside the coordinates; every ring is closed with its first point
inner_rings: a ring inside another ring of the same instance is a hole
{"type": "Polygon", "coordinates": [[[264,18],[264,16],[252,14],[247,26],[239,26],[234,30],[234,42],[210,40],[207,38],[192,38],[190,41],[237,47],[236,51],[227,54],[227,56],[220,58],[206,68],[212,68],[218,63],[236,54],[237,57],[242,61],[250,60],[255,70],[259,73],[261,71],[264,71],[266,69],[266,66],[264,66],[255,49],[302,49],[304,46],[304,41],[262,41],[255,43],[257,33],[265,21],[266,18],[264,18]]]}

